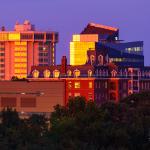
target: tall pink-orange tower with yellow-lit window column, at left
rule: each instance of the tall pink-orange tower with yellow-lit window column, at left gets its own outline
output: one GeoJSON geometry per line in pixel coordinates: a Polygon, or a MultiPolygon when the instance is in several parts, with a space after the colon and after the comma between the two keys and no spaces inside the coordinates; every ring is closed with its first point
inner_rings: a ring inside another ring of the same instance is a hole
{"type": "Polygon", "coordinates": [[[36,31],[29,21],[16,23],[14,31],[0,31],[0,80],[26,78],[31,66],[55,65],[57,32],[36,31]]]}

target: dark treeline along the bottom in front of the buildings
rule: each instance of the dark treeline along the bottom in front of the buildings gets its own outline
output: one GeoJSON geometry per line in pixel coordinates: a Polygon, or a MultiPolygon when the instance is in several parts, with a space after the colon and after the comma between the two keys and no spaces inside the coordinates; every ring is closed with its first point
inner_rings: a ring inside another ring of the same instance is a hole
{"type": "Polygon", "coordinates": [[[50,119],[3,110],[0,150],[150,150],[150,92],[101,106],[71,98],[50,119]]]}

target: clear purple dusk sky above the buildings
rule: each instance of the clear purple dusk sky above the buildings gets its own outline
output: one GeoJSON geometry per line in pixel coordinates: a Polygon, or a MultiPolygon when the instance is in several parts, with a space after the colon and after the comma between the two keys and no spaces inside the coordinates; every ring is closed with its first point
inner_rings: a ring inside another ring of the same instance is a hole
{"type": "Polygon", "coordinates": [[[88,22],[120,28],[120,39],[144,41],[145,65],[150,65],[150,0],[3,0],[0,26],[13,29],[29,19],[40,30],[60,34],[57,63],[69,58],[69,42],[88,22]]]}

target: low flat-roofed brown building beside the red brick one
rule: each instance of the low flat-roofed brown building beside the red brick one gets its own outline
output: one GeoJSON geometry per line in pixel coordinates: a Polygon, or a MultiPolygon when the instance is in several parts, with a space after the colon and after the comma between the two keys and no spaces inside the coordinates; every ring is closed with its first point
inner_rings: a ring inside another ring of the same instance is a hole
{"type": "Polygon", "coordinates": [[[15,108],[20,115],[49,114],[57,104],[65,104],[65,81],[1,81],[0,111],[15,108]]]}

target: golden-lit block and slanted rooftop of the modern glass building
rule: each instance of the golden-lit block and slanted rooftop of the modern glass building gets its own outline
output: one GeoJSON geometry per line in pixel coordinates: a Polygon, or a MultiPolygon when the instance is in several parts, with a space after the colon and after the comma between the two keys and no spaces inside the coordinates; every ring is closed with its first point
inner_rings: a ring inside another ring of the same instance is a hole
{"type": "Polygon", "coordinates": [[[83,65],[87,61],[87,51],[96,49],[96,44],[104,41],[114,41],[119,38],[119,29],[89,23],[81,34],[73,35],[70,42],[70,64],[83,65]],[[81,58],[82,56],[82,58],[81,58]]]}

